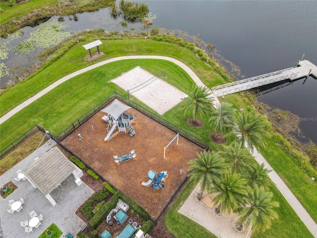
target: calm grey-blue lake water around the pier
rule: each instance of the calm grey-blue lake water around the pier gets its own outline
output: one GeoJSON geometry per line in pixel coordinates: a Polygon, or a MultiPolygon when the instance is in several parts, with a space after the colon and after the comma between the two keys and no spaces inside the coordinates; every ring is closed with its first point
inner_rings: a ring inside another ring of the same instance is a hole
{"type": "MultiPolygon", "coordinates": [[[[292,67],[303,54],[304,59],[317,64],[317,1],[139,2],[147,3],[150,11],[157,14],[152,27],[198,36],[206,44],[214,45],[224,59],[236,64],[246,78],[292,67]]],[[[107,9],[78,14],[78,18],[75,22],[65,17],[68,31],[77,33],[100,27],[121,32],[131,28],[143,30],[140,23],[128,23],[123,28],[119,24],[122,19],[112,19],[107,9]]],[[[9,60],[14,58],[10,55],[9,60]]],[[[317,80],[309,77],[304,85],[303,81],[258,99],[298,115],[302,132],[317,143],[317,80]]]]}

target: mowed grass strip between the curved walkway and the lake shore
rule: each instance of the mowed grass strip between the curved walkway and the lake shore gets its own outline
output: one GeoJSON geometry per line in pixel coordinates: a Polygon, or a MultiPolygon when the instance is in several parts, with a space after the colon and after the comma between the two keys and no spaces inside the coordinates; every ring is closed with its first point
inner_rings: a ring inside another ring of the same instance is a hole
{"type": "MultiPolygon", "coordinates": [[[[217,79],[217,81],[221,81],[222,83],[224,83],[223,79],[221,79],[218,74],[216,74],[215,76],[212,75],[214,69],[211,66],[206,65],[206,63],[204,63],[203,61],[199,60],[199,58],[195,56],[193,51],[190,51],[183,47],[179,47],[175,44],[157,42],[149,38],[104,40],[103,44],[100,46],[100,50],[104,53],[104,55],[95,60],[87,60],[85,57],[87,57],[88,52],[82,46],[89,43],[90,41],[93,41],[93,39],[87,39],[87,41],[85,42],[80,42],[76,44],[67,52],[66,55],[62,56],[59,60],[48,66],[45,70],[40,69],[35,75],[30,76],[26,80],[17,83],[14,87],[4,90],[0,94],[0,117],[2,117],[4,114],[9,112],[28,98],[34,96],[44,88],[48,87],[58,79],[97,62],[120,56],[168,56],[187,64],[194,71],[195,69],[199,68],[200,74],[202,76],[205,76],[206,81],[208,82],[214,82],[214,80],[217,79]],[[12,100],[12,98],[14,98],[14,100],[12,100]]],[[[161,67],[161,65],[157,66],[155,64],[152,64],[149,66],[150,68],[154,69],[154,71],[151,71],[154,74],[158,73],[160,70],[163,70],[163,67],[161,67]]],[[[178,71],[181,72],[183,70],[178,69],[178,71]]],[[[182,79],[182,77],[179,77],[183,74],[180,74],[177,77],[173,77],[173,75],[169,75],[169,72],[167,72],[166,75],[168,75],[167,77],[169,77],[166,78],[166,80],[169,82],[173,82],[174,80],[176,82],[177,80],[178,82],[185,81],[182,79]]],[[[172,84],[174,85],[174,83],[172,84]]],[[[179,84],[179,86],[182,87],[182,84],[179,84]]],[[[182,89],[180,88],[180,90],[182,89]]]]}

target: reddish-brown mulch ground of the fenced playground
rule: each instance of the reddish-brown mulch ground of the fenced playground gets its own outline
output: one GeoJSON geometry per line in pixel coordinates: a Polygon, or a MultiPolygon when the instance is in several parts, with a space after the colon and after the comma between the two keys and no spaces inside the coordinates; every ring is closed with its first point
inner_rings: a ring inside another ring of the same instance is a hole
{"type": "Polygon", "coordinates": [[[129,133],[118,133],[118,130],[115,130],[110,139],[104,141],[107,123],[101,119],[105,113],[99,112],[61,143],[116,189],[121,190],[146,209],[153,219],[157,219],[172,194],[185,179],[187,162],[195,159],[196,152],[201,152],[203,149],[179,137],[178,145],[173,142],[166,149],[164,159],[163,149],[176,133],[137,110],[129,109],[125,113],[134,114],[135,119],[132,123],[136,131],[134,137],[130,137],[129,133]],[[78,134],[83,136],[82,141],[78,140],[78,134]],[[120,164],[114,162],[114,155],[122,156],[133,149],[137,154],[136,158],[120,164]],[[141,185],[142,181],[148,180],[149,170],[167,171],[164,190],[154,191],[150,187],[141,185]]]}

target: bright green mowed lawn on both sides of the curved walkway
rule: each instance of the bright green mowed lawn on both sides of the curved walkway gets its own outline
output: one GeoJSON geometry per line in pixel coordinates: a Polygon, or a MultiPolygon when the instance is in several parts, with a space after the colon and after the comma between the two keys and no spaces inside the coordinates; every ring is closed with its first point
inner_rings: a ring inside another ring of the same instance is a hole
{"type": "MultiPolygon", "coordinates": [[[[85,56],[87,56],[87,52],[83,50],[82,45],[87,44],[92,40],[95,39],[87,37],[87,41],[76,44],[52,65],[48,66],[44,70],[40,70],[33,77],[29,77],[28,80],[20,82],[16,86],[1,93],[1,116],[54,81],[71,72],[101,60],[124,55],[169,56],[187,64],[209,87],[225,82],[221,79],[218,73],[213,76],[212,73],[216,71],[215,68],[200,60],[193,51],[179,47],[175,44],[153,41],[149,38],[103,40],[104,44],[101,47],[101,51],[104,52],[105,55],[97,60],[83,60],[85,56]],[[14,100],[12,100],[12,98],[14,98],[14,100]]],[[[57,135],[62,129],[68,126],[75,119],[78,119],[93,106],[97,105],[113,91],[127,95],[124,90],[109,82],[109,80],[138,65],[150,71],[152,74],[156,74],[165,68],[165,80],[185,93],[186,90],[189,90],[193,84],[192,79],[181,68],[165,60],[124,60],[112,62],[64,82],[62,85],[54,88],[48,94],[38,99],[36,102],[23,109],[12,118],[3,122],[0,125],[1,148],[10,143],[34,124],[42,125],[53,135],[57,135]]],[[[237,108],[252,107],[250,101],[241,95],[244,95],[244,93],[230,95],[225,98],[225,101],[234,103],[237,108]]],[[[138,102],[133,97],[132,100],[138,102]]],[[[142,103],[140,104],[143,105],[142,103]]],[[[190,114],[185,116],[183,115],[179,105],[176,105],[173,109],[163,115],[164,119],[169,120],[186,131],[197,135],[198,138],[210,143],[212,150],[221,150],[221,145],[215,145],[209,139],[209,134],[213,128],[211,128],[208,119],[206,117],[202,117],[201,119],[203,119],[205,125],[202,128],[196,129],[186,123],[186,120],[189,117],[191,117],[190,114]]],[[[231,140],[232,138],[229,138],[227,144],[231,140]]],[[[273,142],[270,141],[270,143],[273,142]]],[[[280,160],[285,160],[284,152],[278,146],[274,146],[274,143],[270,143],[268,143],[269,146],[267,149],[262,150],[261,152],[265,158],[268,158],[269,161],[274,160],[276,163],[282,163],[280,160]]],[[[301,170],[291,170],[292,168],[289,167],[296,167],[296,165],[286,162],[283,166],[280,166],[278,173],[280,173],[282,178],[287,178],[288,182],[291,184],[290,188],[294,194],[297,197],[302,197],[301,199],[305,201],[303,202],[303,205],[311,213],[311,215],[315,217],[314,219],[316,219],[315,210],[317,207],[317,201],[316,199],[314,200],[314,198],[316,198],[316,195],[314,194],[317,194],[316,183],[302,183],[301,180],[307,182],[309,181],[308,176],[304,173],[300,173],[301,170]],[[296,173],[297,176],[292,176],[293,173],[296,173]],[[292,177],[292,179],[288,177],[292,177]],[[302,188],[303,190],[296,187],[302,188]],[[306,189],[308,188],[310,191],[306,192],[306,189]]],[[[189,188],[188,194],[191,189],[192,188],[189,188]]],[[[310,237],[304,224],[299,220],[292,209],[287,208],[288,204],[283,201],[281,194],[276,189],[272,190],[275,194],[276,200],[280,202],[280,208],[278,210],[280,219],[277,222],[273,222],[273,226],[269,230],[269,234],[275,234],[276,237],[283,237],[285,234],[289,234],[284,231],[285,229],[292,230],[294,227],[296,228],[296,232],[298,232],[298,234],[308,234],[306,237],[310,237]],[[291,221],[291,223],[289,221],[291,221]],[[278,226],[276,224],[278,224],[278,226]]],[[[168,228],[171,229],[172,232],[175,232],[175,234],[181,234],[181,232],[185,232],[187,234],[189,232],[178,228],[183,225],[171,222],[174,218],[175,221],[179,219],[177,221],[180,221],[181,224],[183,224],[183,222],[186,224],[188,220],[187,218],[182,216],[179,217],[180,215],[177,216],[172,212],[166,216],[166,219],[168,219],[169,216],[171,218],[166,222],[166,224],[169,224],[168,228]]],[[[193,231],[197,231],[197,233],[202,232],[202,234],[206,232],[200,226],[197,226],[196,223],[191,224],[193,231]]],[[[211,235],[207,235],[206,237],[209,236],[212,237],[211,235]]],[[[182,235],[177,237],[182,237],[182,235]]],[[[257,236],[254,235],[254,237],[257,236]]]]}

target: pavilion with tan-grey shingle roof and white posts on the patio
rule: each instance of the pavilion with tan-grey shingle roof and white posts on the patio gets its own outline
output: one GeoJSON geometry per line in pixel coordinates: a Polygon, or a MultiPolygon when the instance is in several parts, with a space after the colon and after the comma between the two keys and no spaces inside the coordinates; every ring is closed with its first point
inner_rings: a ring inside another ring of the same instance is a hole
{"type": "Polygon", "coordinates": [[[73,174],[75,179],[79,179],[76,166],[57,147],[53,147],[41,161],[25,173],[25,176],[55,205],[56,202],[50,192],[70,174],[73,174]]]}

